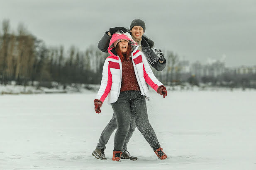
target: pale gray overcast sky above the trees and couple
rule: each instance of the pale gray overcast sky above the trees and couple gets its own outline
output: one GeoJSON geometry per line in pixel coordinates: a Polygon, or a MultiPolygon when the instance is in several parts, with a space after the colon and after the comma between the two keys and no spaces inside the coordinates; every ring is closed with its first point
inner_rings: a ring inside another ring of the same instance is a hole
{"type": "MultiPolygon", "coordinates": [[[[146,23],[156,48],[190,62],[256,65],[255,0],[1,0],[0,22],[23,23],[47,46],[85,50],[110,27],[146,23]]],[[[2,33],[2,24],[0,26],[2,33]]]]}

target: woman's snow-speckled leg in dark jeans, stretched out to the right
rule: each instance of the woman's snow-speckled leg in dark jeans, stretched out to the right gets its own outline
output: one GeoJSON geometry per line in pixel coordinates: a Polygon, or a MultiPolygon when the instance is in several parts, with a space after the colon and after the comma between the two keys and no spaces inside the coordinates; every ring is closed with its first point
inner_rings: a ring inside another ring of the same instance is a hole
{"type": "Polygon", "coordinates": [[[135,98],[131,103],[131,112],[135,117],[137,128],[149,143],[151,148],[153,148],[154,151],[160,148],[156,133],[149,123],[145,96],[141,96],[140,93],[137,94],[137,98],[135,98]]]}

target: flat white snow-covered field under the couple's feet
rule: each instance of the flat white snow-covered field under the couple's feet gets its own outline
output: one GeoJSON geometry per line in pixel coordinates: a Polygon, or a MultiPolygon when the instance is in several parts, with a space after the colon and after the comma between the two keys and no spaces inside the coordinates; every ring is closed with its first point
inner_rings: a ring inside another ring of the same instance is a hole
{"type": "Polygon", "coordinates": [[[0,96],[0,170],[255,170],[256,91],[151,91],[149,120],[167,160],[158,160],[135,130],[128,151],[138,160],[114,162],[91,153],[112,108],[94,112],[96,92],[0,96]]]}

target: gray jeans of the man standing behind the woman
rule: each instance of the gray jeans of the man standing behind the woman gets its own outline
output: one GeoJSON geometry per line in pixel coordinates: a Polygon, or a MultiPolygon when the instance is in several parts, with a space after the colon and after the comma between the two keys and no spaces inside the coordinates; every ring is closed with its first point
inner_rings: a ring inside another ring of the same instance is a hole
{"type": "MultiPolygon", "coordinates": [[[[122,151],[127,150],[127,144],[129,142],[129,140],[131,139],[135,128],[136,128],[136,125],[134,122],[134,117],[131,117],[129,132],[124,141],[124,146],[123,146],[122,151]]],[[[107,144],[108,140],[110,139],[110,136],[112,135],[112,133],[115,131],[115,129],[117,129],[117,120],[115,117],[115,113],[113,113],[112,119],[110,120],[110,122],[107,124],[107,126],[105,127],[105,129],[102,131],[102,133],[100,135],[99,143],[97,144],[96,148],[106,148],[106,144],[107,144]]]]}

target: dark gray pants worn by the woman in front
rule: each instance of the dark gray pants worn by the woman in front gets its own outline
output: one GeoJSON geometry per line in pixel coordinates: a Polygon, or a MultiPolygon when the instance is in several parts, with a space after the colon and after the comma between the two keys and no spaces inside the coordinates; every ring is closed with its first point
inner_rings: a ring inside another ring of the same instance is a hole
{"type": "Polygon", "coordinates": [[[115,133],[114,149],[122,151],[126,136],[130,129],[131,117],[151,148],[160,147],[156,133],[149,123],[146,109],[145,96],[140,91],[123,91],[118,100],[112,103],[112,108],[117,120],[117,132],[115,133]]]}

